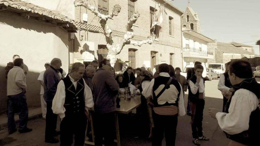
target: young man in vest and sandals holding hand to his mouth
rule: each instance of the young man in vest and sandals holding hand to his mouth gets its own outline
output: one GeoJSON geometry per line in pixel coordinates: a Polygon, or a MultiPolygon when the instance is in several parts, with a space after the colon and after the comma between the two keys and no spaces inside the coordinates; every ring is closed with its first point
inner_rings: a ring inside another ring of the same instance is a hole
{"type": "Polygon", "coordinates": [[[209,140],[203,136],[202,119],[205,105],[205,81],[202,77],[203,66],[198,64],[194,68],[195,74],[189,80],[189,99],[191,101],[191,129],[192,142],[195,145],[200,145],[199,140],[209,140]]]}

